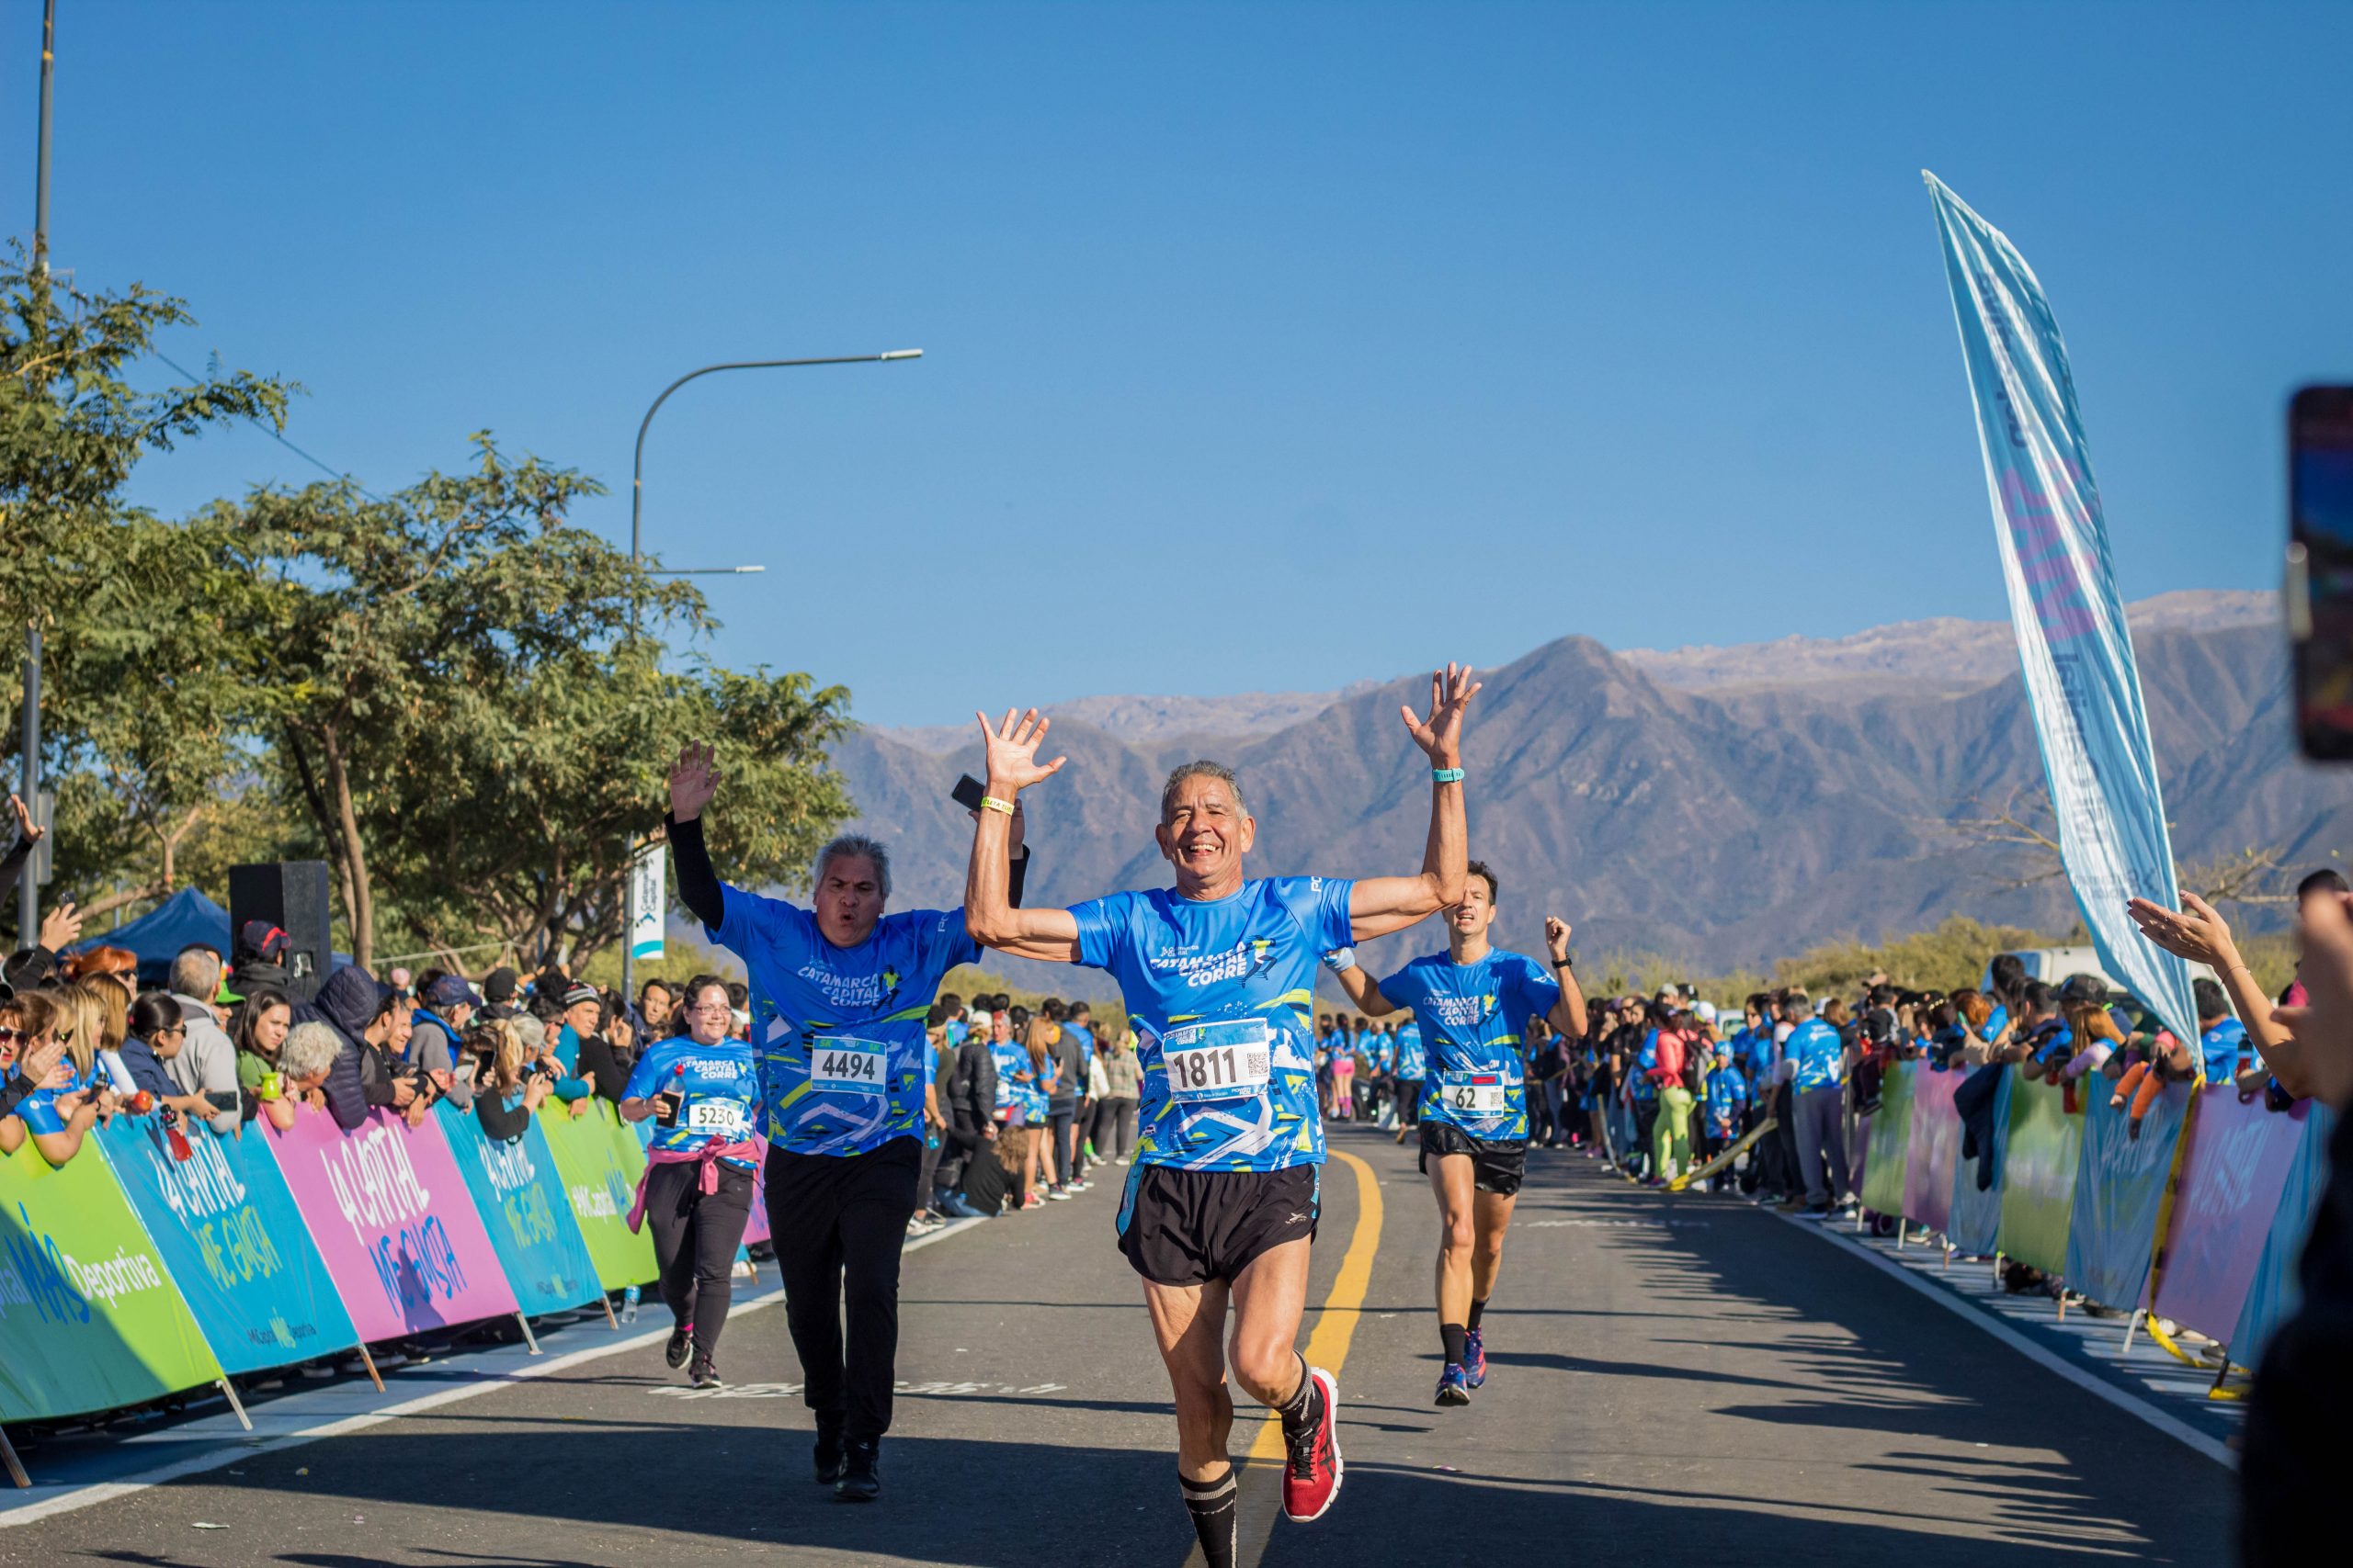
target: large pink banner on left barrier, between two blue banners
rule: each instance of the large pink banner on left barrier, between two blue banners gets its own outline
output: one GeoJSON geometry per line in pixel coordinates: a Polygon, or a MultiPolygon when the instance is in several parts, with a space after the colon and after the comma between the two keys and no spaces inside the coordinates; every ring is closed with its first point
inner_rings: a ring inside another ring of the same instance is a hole
{"type": "Polygon", "coordinates": [[[268,1131],[268,1150],[362,1340],[515,1309],[435,1119],[412,1128],[379,1110],[346,1133],[301,1110],[292,1131],[268,1131]]]}

